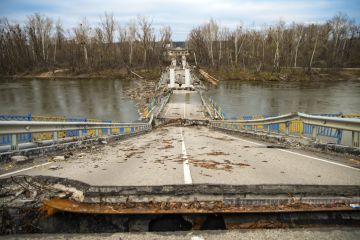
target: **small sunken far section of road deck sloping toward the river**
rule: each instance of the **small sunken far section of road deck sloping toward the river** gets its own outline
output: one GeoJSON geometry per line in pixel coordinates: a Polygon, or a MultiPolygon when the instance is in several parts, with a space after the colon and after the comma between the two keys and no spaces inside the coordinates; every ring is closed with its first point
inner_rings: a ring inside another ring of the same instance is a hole
{"type": "Polygon", "coordinates": [[[160,118],[205,120],[205,109],[200,95],[195,91],[174,90],[160,118]]]}

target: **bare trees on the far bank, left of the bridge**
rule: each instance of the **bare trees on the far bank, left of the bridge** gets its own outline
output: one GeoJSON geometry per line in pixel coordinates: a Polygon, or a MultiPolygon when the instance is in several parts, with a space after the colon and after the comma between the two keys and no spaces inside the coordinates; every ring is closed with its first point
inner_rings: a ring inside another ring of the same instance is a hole
{"type": "Polygon", "coordinates": [[[162,61],[172,30],[145,16],[120,25],[105,13],[96,26],[84,18],[65,30],[60,20],[36,13],[23,25],[0,20],[0,73],[15,74],[66,68],[89,72],[123,67],[153,67],[162,61]]]}

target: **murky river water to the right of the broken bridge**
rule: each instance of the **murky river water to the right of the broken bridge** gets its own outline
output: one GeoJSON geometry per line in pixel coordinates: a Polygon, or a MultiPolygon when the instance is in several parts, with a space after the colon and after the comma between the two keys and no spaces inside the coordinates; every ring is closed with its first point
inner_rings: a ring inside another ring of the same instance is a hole
{"type": "Polygon", "coordinates": [[[228,117],[287,112],[359,113],[360,81],[223,81],[207,93],[228,117]]]}

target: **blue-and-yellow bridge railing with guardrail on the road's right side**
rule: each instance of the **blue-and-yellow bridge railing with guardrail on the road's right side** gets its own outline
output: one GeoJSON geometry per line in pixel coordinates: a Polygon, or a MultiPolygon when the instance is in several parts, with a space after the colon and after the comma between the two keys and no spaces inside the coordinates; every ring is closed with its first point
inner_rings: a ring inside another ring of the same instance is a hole
{"type": "MultiPolygon", "coordinates": [[[[210,126],[232,131],[260,131],[269,134],[276,132],[285,136],[296,132],[298,134],[291,136],[311,135],[314,140],[319,140],[319,136],[338,137],[339,134],[342,135],[342,131],[349,131],[351,133],[349,145],[360,148],[360,119],[351,117],[319,116],[295,112],[262,119],[212,120],[210,126]]],[[[337,141],[337,143],[340,142],[337,141]]]]}

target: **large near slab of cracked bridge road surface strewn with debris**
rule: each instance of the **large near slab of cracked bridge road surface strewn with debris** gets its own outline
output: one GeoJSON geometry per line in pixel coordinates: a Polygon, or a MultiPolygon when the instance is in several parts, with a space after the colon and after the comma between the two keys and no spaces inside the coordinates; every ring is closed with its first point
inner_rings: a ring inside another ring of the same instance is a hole
{"type": "Polygon", "coordinates": [[[69,160],[18,174],[67,177],[92,185],[346,184],[359,169],[313,153],[267,148],[206,127],[164,127],[74,154],[69,160]]]}

